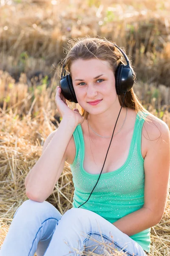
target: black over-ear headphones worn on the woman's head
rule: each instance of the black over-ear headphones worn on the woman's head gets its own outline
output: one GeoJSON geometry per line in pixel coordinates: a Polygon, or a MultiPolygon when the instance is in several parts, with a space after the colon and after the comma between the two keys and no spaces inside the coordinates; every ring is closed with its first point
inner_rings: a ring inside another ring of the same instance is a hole
{"type": "MultiPolygon", "coordinates": [[[[127,65],[120,63],[115,73],[116,93],[117,95],[122,95],[130,91],[130,89],[133,87],[135,73],[129,64],[129,59],[125,54],[125,52],[123,52],[122,49],[120,49],[116,44],[113,44],[113,45],[122,52],[127,62],[127,65]]],[[[65,68],[65,64],[62,66],[61,80],[59,82],[61,93],[65,97],[65,99],[67,99],[68,101],[78,103],[76,94],[73,88],[73,82],[72,82],[71,76],[70,74],[65,76],[64,68],[65,68]],[[63,76],[63,70],[64,70],[64,76],[63,76]]]]}

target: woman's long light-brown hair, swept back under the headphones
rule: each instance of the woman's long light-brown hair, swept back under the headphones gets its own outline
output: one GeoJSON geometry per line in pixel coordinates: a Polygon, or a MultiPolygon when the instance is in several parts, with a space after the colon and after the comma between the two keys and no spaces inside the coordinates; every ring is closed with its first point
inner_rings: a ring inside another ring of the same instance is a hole
{"type": "MultiPolygon", "coordinates": [[[[74,38],[74,39],[68,38],[69,50],[65,58],[62,59],[61,63],[65,64],[65,70],[68,71],[72,77],[71,64],[73,63],[73,61],[76,61],[78,59],[88,60],[91,58],[97,58],[100,60],[108,61],[115,76],[118,65],[120,63],[126,65],[127,63],[124,59],[124,56],[122,55],[122,52],[120,52],[119,49],[115,47],[113,44],[116,44],[116,43],[108,41],[106,38],[95,38],[95,37],[91,38],[88,35],[86,35],[83,38],[74,38]]],[[[125,52],[125,49],[123,48],[121,49],[125,52]]],[[[129,59],[129,63],[132,67],[130,59],[129,59]]],[[[135,82],[135,79],[136,79],[136,74],[134,77],[134,82],[135,82]]],[[[131,108],[135,110],[136,113],[139,112],[139,116],[142,116],[142,117],[144,117],[143,112],[150,113],[142,106],[141,102],[136,96],[136,93],[134,93],[133,91],[133,87],[130,89],[130,91],[126,92],[124,103],[123,103],[123,98],[124,98],[124,95],[118,95],[119,103],[122,107],[131,108]]],[[[84,119],[87,119],[89,113],[85,111],[82,107],[80,107],[80,110],[82,112],[81,113],[82,116],[84,116],[84,119]]],[[[153,119],[150,115],[148,116],[150,119],[153,119]]],[[[150,120],[147,118],[147,121],[150,121],[150,120]]]]}

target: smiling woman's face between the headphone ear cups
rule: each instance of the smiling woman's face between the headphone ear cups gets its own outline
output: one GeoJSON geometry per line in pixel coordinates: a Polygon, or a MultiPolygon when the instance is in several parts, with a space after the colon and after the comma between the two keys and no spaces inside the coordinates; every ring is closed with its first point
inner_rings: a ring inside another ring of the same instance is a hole
{"type": "Polygon", "coordinates": [[[117,94],[108,61],[78,59],[71,64],[71,77],[77,101],[88,113],[99,114],[113,107],[117,94]],[[90,104],[96,100],[101,101],[90,104]]]}

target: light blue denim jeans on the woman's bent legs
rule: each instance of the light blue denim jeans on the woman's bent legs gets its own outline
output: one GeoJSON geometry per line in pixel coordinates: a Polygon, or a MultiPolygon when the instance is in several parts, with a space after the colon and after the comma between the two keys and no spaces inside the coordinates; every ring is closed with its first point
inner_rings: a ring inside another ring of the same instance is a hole
{"type": "Polygon", "coordinates": [[[79,256],[92,250],[101,255],[103,242],[112,252],[146,256],[136,241],[95,212],[71,208],[61,215],[47,201],[28,199],[14,214],[0,256],[79,256]]]}

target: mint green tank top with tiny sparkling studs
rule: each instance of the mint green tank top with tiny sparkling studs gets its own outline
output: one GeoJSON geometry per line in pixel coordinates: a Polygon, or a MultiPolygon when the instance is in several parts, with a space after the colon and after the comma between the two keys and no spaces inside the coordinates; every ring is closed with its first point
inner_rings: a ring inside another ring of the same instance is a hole
{"type": "MultiPolygon", "coordinates": [[[[137,211],[144,205],[144,159],[141,153],[142,126],[148,113],[139,112],[136,115],[133,136],[127,160],[122,167],[113,172],[90,174],[83,168],[85,143],[81,125],[77,125],[73,137],[76,146],[74,162],[70,165],[74,183],[73,207],[81,206],[88,209],[111,223],[125,215],[137,211]]],[[[133,224],[133,223],[132,223],[133,224]]],[[[143,230],[131,239],[141,245],[143,250],[150,252],[150,228],[143,230]]]]}

